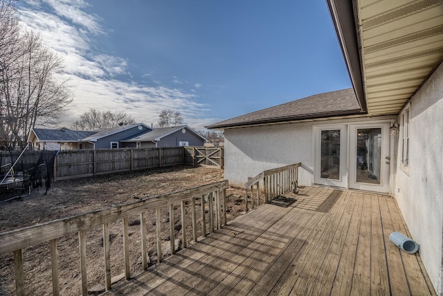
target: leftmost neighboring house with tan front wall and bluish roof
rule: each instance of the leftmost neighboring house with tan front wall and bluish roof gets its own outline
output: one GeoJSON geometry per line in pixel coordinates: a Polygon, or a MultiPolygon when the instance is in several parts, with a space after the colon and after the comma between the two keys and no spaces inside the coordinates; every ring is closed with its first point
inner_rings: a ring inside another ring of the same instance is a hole
{"type": "Polygon", "coordinates": [[[28,137],[28,143],[35,150],[75,150],[84,149],[82,139],[95,134],[69,128],[46,129],[33,128],[28,137]]]}

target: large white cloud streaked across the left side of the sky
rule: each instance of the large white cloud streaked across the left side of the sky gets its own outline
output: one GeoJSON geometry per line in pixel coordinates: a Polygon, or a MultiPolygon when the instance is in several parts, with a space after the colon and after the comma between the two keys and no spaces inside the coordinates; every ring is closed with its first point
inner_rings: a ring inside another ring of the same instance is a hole
{"type": "MultiPolygon", "coordinates": [[[[78,120],[80,114],[90,108],[98,110],[125,111],[136,121],[156,123],[164,108],[181,112],[192,128],[204,129],[213,119],[204,119],[208,106],[197,101],[193,92],[165,87],[154,74],[147,71],[142,78],[150,77],[156,85],[142,85],[116,79],[126,75],[129,60],[108,53],[96,52],[91,35],[102,34],[105,29],[100,18],[84,12],[89,4],[83,0],[43,0],[51,11],[43,11],[42,2],[30,0],[20,8],[20,19],[26,28],[36,31],[45,44],[64,58],[63,79],[69,79],[74,95],[71,112],[63,125],[78,120]]],[[[133,61],[134,62],[134,61],[133,61]]],[[[177,76],[177,84],[188,83],[177,76]]],[[[132,80],[132,79],[131,79],[132,80]]],[[[194,85],[201,87],[199,83],[194,85]]]]}

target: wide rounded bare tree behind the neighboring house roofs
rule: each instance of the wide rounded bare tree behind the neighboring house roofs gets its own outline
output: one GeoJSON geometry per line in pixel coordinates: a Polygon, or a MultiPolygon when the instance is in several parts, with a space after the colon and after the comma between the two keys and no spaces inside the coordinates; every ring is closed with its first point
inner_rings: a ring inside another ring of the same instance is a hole
{"type": "Polygon", "coordinates": [[[134,117],[126,112],[111,112],[90,109],[80,116],[80,121],[75,121],[71,128],[74,130],[101,130],[103,128],[114,128],[123,123],[124,125],[136,123],[134,117]]]}

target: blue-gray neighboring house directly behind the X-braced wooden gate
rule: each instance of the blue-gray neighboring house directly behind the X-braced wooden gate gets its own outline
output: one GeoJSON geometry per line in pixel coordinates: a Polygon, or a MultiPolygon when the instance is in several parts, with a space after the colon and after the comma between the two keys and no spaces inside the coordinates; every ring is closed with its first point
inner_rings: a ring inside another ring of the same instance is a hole
{"type": "Polygon", "coordinates": [[[187,125],[172,128],[154,128],[151,132],[138,137],[122,141],[125,147],[177,147],[177,146],[204,146],[207,140],[187,125]]]}

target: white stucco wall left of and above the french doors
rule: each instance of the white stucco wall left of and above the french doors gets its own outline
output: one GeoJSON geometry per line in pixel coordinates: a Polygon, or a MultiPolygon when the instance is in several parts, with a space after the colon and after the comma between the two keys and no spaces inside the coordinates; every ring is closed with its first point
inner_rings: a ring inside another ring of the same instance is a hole
{"type": "MultiPolygon", "coordinates": [[[[337,125],[371,121],[393,121],[397,116],[325,119],[224,130],[224,174],[230,184],[244,186],[248,177],[271,168],[302,163],[298,184],[314,183],[314,125],[337,125]]],[[[393,167],[393,166],[392,166],[393,167]]]]}

